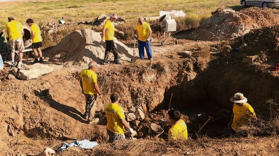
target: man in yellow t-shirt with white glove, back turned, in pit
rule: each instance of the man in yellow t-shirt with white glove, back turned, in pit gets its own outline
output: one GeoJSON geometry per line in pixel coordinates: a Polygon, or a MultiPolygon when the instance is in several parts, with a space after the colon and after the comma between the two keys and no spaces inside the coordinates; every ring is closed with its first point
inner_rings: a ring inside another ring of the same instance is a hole
{"type": "Polygon", "coordinates": [[[119,94],[113,93],[111,95],[112,103],[107,104],[105,107],[105,113],[107,117],[107,133],[109,135],[109,141],[125,139],[124,127],[128,128],[131,132],[131,137],[136,135],[136,131],[133,130],[128,122],[125,120],[124,110],[118,105],[119,94]]]}

